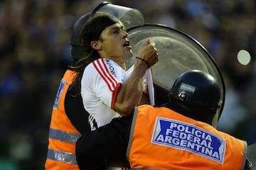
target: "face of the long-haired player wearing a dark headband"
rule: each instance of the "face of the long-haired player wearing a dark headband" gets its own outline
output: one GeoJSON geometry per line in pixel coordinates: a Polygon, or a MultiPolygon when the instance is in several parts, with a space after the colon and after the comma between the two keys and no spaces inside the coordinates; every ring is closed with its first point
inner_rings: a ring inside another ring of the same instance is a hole
{"type": "Polygon", "coordinates": [[[100,57],[105,57],[117,64],[122,64],[132,57],[132,46],[129,45],[127,32],[120,23],[115,23],[102,31],[100,38],[100,57]]]}

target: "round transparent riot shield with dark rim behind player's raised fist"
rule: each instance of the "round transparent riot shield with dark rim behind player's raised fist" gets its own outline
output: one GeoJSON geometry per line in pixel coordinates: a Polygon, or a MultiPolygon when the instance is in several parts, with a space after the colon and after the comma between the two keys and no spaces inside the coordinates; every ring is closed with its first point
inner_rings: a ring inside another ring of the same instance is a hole
{"type": "MultiPolygon", "coordinates": [[[[191,69],[201,69],[215,77],[220,86],[220,118],[225,101],[225,85],[215,60],[203,45],[186,33],[159,24],[144,24],[130,28],[127,32],[134,54],[148,38],[156,44],[159,62],[152,67],[156,105],[168,101],[167,94],[180,74],[191,69]]],[[[135,56],[126,62],[127,68],[134,64],[134,60],[135,56]]]]}

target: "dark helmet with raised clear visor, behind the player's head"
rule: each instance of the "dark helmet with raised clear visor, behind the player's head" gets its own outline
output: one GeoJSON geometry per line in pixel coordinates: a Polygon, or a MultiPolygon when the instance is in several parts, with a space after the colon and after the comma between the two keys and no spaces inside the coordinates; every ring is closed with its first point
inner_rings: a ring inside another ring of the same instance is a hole
{"type": "Polygon", "coordinates": [[[75,60],[80,60],[81,57],[88,55],[80,43],[80,32],[82,30],[82,26],[88,20],[88,18],[97,13],[97,11],[110,13],[110,15],[118,18],[124,24],[126,29],[134,26],[142,26],[144,24],[144,16],[139,10],[126,6],[118,6],[112,4],[111,2],[103,1],[102,3],[98,4],[91,13],[86,13],[75,22],[70,39],[71,57],[75,60]]]}

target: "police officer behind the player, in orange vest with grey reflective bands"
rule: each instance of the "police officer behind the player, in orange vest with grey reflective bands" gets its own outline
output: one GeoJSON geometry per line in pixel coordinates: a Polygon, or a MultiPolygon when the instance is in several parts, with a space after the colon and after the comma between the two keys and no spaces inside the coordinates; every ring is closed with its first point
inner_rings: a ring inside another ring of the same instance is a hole
{"type": "Polygon", "coordinates": [[[46,169],[79,169],[75,158],[75,142],[84,132],[90,131],[89,114],[85,111],[81,96],[77,95],[79,84],[72,84],[76,72],[72,67],[84,56],[82,47],[75,44],[90,13],[80,17],[73,28],[71,53],[73,62],[60,81],[50,120],[46,169]]]}

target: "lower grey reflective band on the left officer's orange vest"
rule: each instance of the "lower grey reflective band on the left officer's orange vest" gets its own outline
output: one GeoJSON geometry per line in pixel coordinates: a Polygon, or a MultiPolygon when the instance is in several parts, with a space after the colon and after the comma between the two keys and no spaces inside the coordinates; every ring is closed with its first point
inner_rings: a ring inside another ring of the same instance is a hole
{"type": "Polygon", "coordinates": [[[68,152],[55,151],[52,149],[48,149],[47,159],[52,159],[58,162],[65,162],[68,164],[78,164],[76,162],[75,154],[68,153],[68,152]]]}

